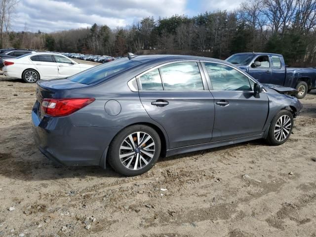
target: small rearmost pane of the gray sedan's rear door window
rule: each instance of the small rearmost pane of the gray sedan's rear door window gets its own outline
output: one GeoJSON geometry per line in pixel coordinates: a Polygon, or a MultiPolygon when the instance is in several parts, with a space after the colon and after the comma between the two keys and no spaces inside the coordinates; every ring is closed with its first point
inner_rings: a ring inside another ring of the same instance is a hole
{"type": "Polygon", "coordinates": [[[140,90],[163,90],[159,70],[155,69],[139,77],[140,90]]]}

